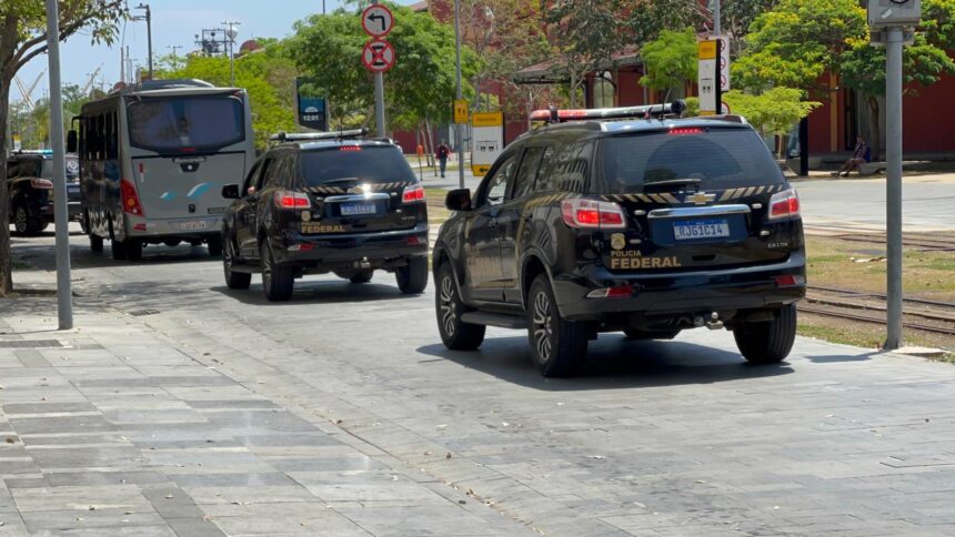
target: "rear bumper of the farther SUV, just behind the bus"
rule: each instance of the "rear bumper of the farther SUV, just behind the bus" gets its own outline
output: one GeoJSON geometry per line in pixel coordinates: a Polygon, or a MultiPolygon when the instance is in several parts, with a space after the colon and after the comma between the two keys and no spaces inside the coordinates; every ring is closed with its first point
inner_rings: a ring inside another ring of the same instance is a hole
{"type": "Polygon", "coordinates": [[[278,263],[333,268],[368,260],[372,267],[384,267],[393,260],[428,255],[428,223],[419,222],[408,230],[349,235],[303,235],[288,231],[273,247],[278,263]]]}

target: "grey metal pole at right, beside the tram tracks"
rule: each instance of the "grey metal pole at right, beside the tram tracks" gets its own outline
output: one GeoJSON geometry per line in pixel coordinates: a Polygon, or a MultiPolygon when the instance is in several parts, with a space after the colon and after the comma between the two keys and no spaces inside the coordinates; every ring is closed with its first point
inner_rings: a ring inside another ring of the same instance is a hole
{"type": "Polygon", "coordinates": [[[887,324],[884,348],[902,346],[902,28],[885,43],[885,240],[887,324]]]}

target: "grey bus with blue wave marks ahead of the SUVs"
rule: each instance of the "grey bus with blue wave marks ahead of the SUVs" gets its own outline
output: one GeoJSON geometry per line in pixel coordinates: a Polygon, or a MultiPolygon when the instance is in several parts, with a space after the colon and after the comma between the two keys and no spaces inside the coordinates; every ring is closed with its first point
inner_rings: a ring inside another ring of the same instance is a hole
{"type": "Polygon", "coordinates": [[[148,81],[87,103],[78,121],[68,145],[93,251],[109,240],[115,260],[182,242],[221,254],[222,185],[241,183],[255,160],[245,90],[148,81]]]}

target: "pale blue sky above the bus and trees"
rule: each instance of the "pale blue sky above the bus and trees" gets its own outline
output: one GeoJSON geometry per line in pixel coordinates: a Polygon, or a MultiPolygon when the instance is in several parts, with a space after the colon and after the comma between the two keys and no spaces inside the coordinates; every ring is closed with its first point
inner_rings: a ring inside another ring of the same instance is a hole
{"type": "MultiPolygon", "coordinates": [[[[237,43],[253,37],[281,38],[292,32],[292,24],[312,13],[322,11],[322,0],[143,0],[152,10],[153,55],[169,54],[171,45],[182,45],[178,54],[195,49],[195,34],[203,28],[220,28],[222,21],[240,21],[237,28],[237,43]]],[[[129,4],[138,6],[140,0],[129,0],[129,4]]],[[[413,3],[403,0],[399,3],[413,3]]],[[[325,0],[329,11],[341,4],[339,0],[325,0]]],[[[132,10],[141,14],[140,10],[132,10]]],[[[61,43],[61,63],[63,83],[84,85],[90,74],[102,65],[102,80],[109,89],[120,78],[120,42],[129,45],[130,55],[134,62],[147,64],[147,31],[145,22],[129,21],[125,32],[120,26],[118,42],[112,47],[90,45],[89,36],[76,34],[61,43]]],[[[237,44],[238,45],[238,44],[237,44]]],[[[355,59],[355,61],[359,61],[355,59]]],[[[24,85],[29,85],[47,68],[47,55],[39,55],[20,70],[19,77],[24,85]]],[[[43,74],[33,98],[46,95],[48,74],[43,74]]],[[[99,80],[99,77],[98,77],[99,80]]],[[[20,99],[20,91],[11,88],[10,99],[20,99]]]]}

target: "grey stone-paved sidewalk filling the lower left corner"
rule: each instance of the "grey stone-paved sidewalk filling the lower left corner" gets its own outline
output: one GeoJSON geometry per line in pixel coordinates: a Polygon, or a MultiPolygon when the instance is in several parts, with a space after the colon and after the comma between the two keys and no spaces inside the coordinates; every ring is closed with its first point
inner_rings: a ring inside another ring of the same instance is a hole
{"type": "Polygon", "coordinates": [[[137,315],[0,300],[0,535],[532,533],[137,315]]]}

